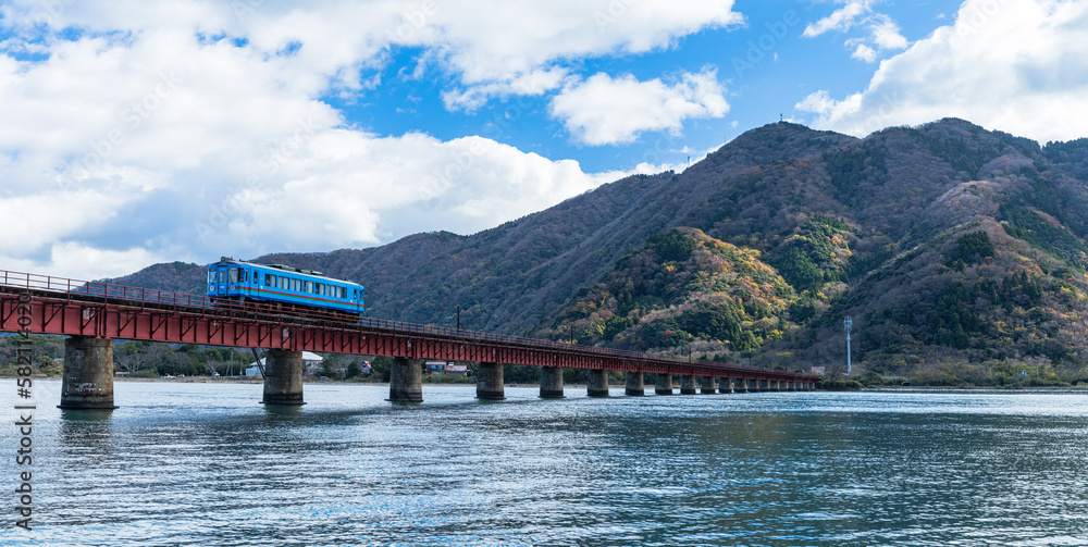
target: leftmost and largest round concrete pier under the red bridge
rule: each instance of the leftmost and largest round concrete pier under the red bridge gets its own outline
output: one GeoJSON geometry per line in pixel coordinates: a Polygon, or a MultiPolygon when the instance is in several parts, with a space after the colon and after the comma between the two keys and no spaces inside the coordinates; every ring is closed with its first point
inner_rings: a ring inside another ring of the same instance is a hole
{"type": "Polygon", "coordinates": [[[72,336],[64,340],[64,376],[58,408],[118,408],[113,405],[112,339],[72,336]]]}

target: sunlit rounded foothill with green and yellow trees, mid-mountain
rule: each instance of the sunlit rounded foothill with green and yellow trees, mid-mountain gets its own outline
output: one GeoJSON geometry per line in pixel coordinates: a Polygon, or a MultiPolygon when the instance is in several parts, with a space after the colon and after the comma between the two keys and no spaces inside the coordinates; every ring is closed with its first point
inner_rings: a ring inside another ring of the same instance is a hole
{"type": "Polygon", "coordinates": [[[691,355],[709,358],[780,339],[793,328],[780,316],[794,300],[758,251],[680,228],[651,236],[605,282],[581,290],[548,334],[657,350],[702,340],[707,347],[691,355]]]}

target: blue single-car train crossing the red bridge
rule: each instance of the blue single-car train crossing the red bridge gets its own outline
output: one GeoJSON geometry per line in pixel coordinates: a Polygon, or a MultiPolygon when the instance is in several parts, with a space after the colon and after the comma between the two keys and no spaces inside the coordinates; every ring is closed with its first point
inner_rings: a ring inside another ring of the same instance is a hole
{"type": "Polygon", "coordinates": [[[270,301],[361,314],[362,285],[283,264],[254,264],[223,257],[208,265],[208,296],[270,301]]]}

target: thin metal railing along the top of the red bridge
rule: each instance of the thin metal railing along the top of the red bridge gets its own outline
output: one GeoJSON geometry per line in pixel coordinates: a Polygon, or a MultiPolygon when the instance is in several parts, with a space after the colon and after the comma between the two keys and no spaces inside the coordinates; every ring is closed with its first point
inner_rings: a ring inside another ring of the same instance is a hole
{"type": "Polygon", "coordinates": [[[226,318],[257,314],[267,318],[274,318],[286,323],[298,322],[322,322],[332,323],[341,328],[349,330],[372,330],[385,331],[396,334],[419,334],[423,336],[438,336],[449,339],[466,341],[485,341],[490,344],[504,344],[518,346],[521,348],[541,348],[555,351],[565,351],[581,355],[599,355],[611,358],[627,358],[640,361],[675,362],[694,366],[710,369],[722,369],[733,372],[765,373],[765,369],[758,366],[744,366],[740,364],[719,363],[714,361],[682,360],[669,356],[654,356],[639,351],[622,349],[602,348],[598,346],[584,346],[557,340],[545,340],[540,338],[529,338],[524,336],[503,335],[485,333],[480,331],[469,331],[440,325],[429,325],[421,323],[408,323],[404,321],[392,321],[374,318],[349,319],[344,313],[332,312],[321,309],[284,309],[275,303],[249,301],[246,303],[232,300],[211,299],[207,296],[189,295],[185,293],[173,293],[169,290],[149,289],[132,287],[115,283],[86,282],[70,279],[65,277],[54,277],[50,275],[39,275],[23,272],[10,272],[0,270],[0,287],[29,289],[46,293],[55,293],[53,298],[92,298],[102,303],[114,303],[120,306],[159,306],[170,307],[175,310],[186,310],[189,312],[213,313],[226,318]]]}

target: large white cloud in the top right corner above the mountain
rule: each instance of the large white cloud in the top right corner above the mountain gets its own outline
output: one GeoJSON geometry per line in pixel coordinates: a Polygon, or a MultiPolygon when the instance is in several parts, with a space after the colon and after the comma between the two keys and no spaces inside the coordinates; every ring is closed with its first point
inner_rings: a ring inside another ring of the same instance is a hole
{"type": "Polygon", "coordinates": [[[1083,137],[1088,3],[968,0],[954,24],[881,62],[864,91],[795,108],[856,136],[956,116],[1040,141],[1083,137]]]}

